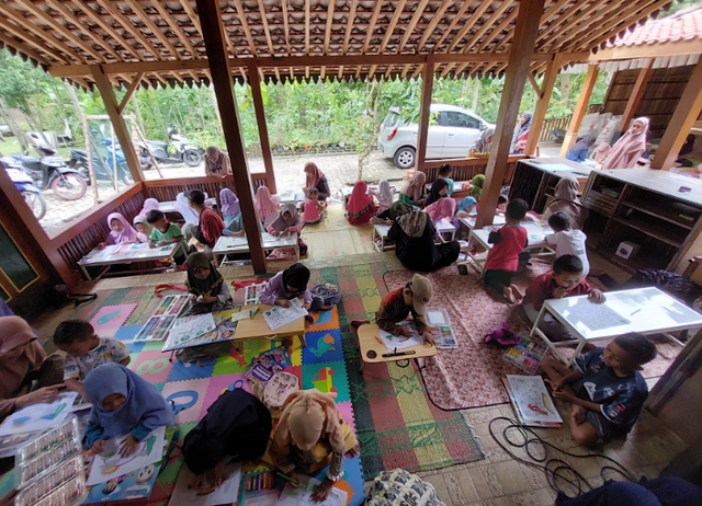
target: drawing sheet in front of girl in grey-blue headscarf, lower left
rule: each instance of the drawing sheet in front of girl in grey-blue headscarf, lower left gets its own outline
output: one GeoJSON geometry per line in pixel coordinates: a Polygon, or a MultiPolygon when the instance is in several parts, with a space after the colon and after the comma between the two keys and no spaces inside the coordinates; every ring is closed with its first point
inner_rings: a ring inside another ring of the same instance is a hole
{"type": "Polygon", "coordinates": [[[166,444],[166,427],[159,427],[146,436],[134,453],[128,457],[120,456],[122,441],[128,437],[110,438],[102,453],[95,456],[90,468],[87,484],[95,485],[117,479],[132,471],[137,471],[150,464],[155,464],[163,457],[166,444]]]}

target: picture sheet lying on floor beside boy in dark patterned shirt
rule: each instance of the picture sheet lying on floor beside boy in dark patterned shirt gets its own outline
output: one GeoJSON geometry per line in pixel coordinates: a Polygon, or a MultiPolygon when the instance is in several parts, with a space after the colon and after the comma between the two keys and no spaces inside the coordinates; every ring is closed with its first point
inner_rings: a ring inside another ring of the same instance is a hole
{"type": "Polygon", "coordinates": [[[508,375],[505,386],[522,425],[558,426],[563,423],[541,376],[508,375]]]}

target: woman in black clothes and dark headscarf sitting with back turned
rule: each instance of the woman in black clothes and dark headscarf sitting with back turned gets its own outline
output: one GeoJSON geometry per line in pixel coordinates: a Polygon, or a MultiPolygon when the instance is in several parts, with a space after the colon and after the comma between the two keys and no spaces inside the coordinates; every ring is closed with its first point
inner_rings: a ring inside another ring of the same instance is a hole
{"type": "Polygon", "coordinates": [[[394,222],[387,237],[395,241],[395,254],[405,267],[428,273],[451,265],[458,257],[458,241],[434,244],[437,230],[426,212],[396,203],[390,218],[394,222]]]}

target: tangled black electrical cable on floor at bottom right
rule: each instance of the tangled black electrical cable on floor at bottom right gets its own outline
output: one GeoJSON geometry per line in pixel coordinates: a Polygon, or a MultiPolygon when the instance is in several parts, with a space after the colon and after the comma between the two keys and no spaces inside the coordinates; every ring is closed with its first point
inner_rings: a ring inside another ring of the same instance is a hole
{"type": "Polygon", "coordinates": [[[568,495],[568,493],[563,488],[562,482],[565,482],[577,490],[578,493],[576,494],[576,496],[592,490],[593,486],[579,472],[573,469],[573,467],[568,462],[558,458],[548,459],[550,449],[576,459],[600,458],[611,462],[614,465],[603,465],[600,469],[600,476],[602,478],[602,481],[612,479],[612,476],[605,476],[607,471],[619,473],[629,481],[635,481],[629,470],[616,460],[611,459],[610,457],[607,457],[602,453],[571,453],[546,441],[532,428],[524,427],[518,422],[506,416],[498,416],[497,418],[492,418],[488,425],[488,429],[490,432],[490,436],[492,437],[492,439],[495,439],[495,442],[497,442],[497,445],[507,455],[524,465],[542,470],[546,475],[546,480],[548,481],[548,485],[551,486],[551,488],[556,493],[566,495],[569,498],[571,498],[571,496],[568,495]],[[496,435],[494,424],[498,422],[507,423],[507,426],[502,427],[501,430],[501,437],[506,442],[502,442],[498,435],[496,435]],[[522,448],[532,460],[526,460],[514,455],[514,452],[512,452],[510,448],[522,448]],[[587,488],[584,490],[584,486],[587,488]]]}

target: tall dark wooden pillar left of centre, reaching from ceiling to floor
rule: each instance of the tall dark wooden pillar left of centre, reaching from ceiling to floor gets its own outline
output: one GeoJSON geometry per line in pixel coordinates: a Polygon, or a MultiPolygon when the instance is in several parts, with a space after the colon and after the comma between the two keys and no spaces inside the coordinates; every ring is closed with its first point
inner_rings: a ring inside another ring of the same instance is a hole
{"type": "Polygon", "coordinates": [[[212,84],[217,97],[217,108],[222,117],[222,129],[231,159],[231,173],[237,196],[241,204],[244,229],[249,242],[251,264],[256,274],[264,274],[265,254],[261,246],[261,229],[253,205],[253,184],[247,165],[244,150],[244,138],[237,114],[237,102],[234,97],[234,82],[226,49],[226,38],[222,25],[222,13],[217,0],[196,0],[197,16],[203,30],[207,65],[212,76],[212,84]]]}

